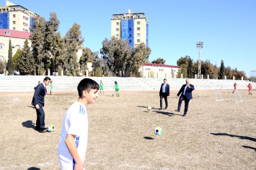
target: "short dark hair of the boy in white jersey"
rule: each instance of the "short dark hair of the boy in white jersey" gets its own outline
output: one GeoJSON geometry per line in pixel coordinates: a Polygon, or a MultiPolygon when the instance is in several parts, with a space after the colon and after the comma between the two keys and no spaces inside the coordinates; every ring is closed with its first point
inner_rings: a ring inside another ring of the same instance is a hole
{"type": "Polygon", "coordinates": [[[90,78],[84,78],[78,84],[78,95],[79,95],[79,97],[82,97],[82,92],[84,90],[89,92],[91,89],[99,90],[99,84],[97,82],[95,82],[94,80],[91,80],[90,78]]]}

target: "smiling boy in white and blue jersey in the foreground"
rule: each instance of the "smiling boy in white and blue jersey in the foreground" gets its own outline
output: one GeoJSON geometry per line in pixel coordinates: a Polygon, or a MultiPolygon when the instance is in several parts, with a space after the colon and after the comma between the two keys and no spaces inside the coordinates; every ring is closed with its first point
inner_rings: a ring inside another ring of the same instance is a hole
{"type": "Polygon", "coordinates": [[[84,78],[78,84],[78,101],[67,110],[59,142],[59,163],[61,169],[84,169],[88,140],[88,118],[86,106],[95,103],[99,84],[84,78]]]}

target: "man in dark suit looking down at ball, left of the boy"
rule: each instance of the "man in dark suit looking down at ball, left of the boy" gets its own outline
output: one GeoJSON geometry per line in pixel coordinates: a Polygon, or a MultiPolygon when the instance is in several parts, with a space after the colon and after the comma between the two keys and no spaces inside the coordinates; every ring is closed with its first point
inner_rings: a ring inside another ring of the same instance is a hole
{"type": "Polygon", "coordinates": [[[35,130],[42,132],[47,128],[44,127],[44,96],[47,93],[46,86],[50,84],[50,78],[44,78],[44,82],[38,84],[35,88],[34,96],[31,105],[35,106],[35,111],[37,112],[37,122],[35,126],[35,130]]]}

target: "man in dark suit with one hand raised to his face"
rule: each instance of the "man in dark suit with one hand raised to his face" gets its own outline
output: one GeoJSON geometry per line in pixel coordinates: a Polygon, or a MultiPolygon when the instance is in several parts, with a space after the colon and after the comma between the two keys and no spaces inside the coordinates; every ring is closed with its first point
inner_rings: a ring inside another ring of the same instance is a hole
{"type": "Polygon", "coordinates": [[[190,99],[193,99],[192,97],[192,91],[194,90],[193,84],[190,84],[190,80],[186,80],[186,84],[184,84],[180,91],[178,92],[176,98],[180,95],[180,99],[178,100],[178,109],[176,109],[176,112],[180,112],[180,106],[182,101],[185,101],[185,109],[183,116],[186,116],[187,110],[189,109],[189,101],[190,99]]]}

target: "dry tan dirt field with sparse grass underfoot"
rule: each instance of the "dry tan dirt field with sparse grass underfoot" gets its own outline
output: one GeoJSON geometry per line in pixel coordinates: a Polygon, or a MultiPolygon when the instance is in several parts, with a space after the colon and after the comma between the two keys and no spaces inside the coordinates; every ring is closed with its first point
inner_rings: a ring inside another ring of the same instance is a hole
{"type": "MultiPolygon", "coordinates": [[[[241,90],[243,102],[235,103],[215,101],[214,90],[195,90],[186,117],[174,111],[176,93],[161,111],[158,92],[100,95],[88,107],[86,169],[256,169],[256,91],[241,90]],[[162,135],[153,133],[155,126],[162,135]]],[[[63,117],[78,95],[46,95],[46,124],[54,124],[53,133],[35,131],[32,96],[0,94],[0,169],[60,169],[63,117]]],[[[234,99],[231,90],[223,96],[234,99]]]]}

